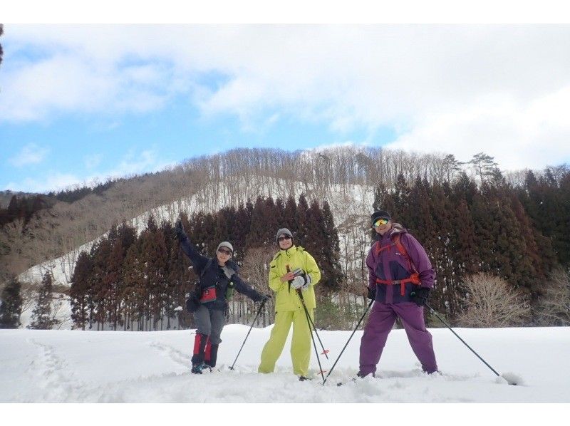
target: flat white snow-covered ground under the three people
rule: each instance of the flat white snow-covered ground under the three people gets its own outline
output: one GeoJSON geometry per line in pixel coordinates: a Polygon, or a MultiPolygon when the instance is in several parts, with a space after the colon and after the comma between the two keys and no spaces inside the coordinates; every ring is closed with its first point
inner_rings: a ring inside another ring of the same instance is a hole
{"type": "MultiPolygon", "coordinates": [[[[326,385],[313,354],[314,380],[291,371],[289,341],[276,372],[257,373],[271,327],[222,333],[219,369],[190,373],[193,331],[0,330],[0,402],[570,402],[570,328],[457,328],[497,378],[447,330],[432,329],[442,375],[425,375],[403,330],[390,333],[378,378],[351,381],[358,368],[358,331],[326,385]],[[345,383],[337,386],[337,383],[345,383]]],[[[321,331],[331,368],[351,331],[321,331]]],[[[317,342],[318,345],[318,342],[317,342]]]]}

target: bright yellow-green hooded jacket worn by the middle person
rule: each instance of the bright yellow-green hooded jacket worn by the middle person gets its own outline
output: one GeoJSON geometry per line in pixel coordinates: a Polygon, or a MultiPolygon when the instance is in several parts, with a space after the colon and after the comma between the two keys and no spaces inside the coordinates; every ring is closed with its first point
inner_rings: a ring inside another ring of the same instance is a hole
{"type": "Polygon", "coordinates": [[[303,291],[303,298],[307,309],[316,308],[313,286],[321,279],[321,271],[318,270],[313,256],[303,247],[293,245],[287,250],[279,250],[269,264],[269,288],[276,292],[275,312],[296,311],[303,308],[301,298],[295,289],[291,288],[289,291],[289,282],[281,282],[281,276],[287,273],[287,266],[291,271],[301,268],[311,276],[311,284],[309,289],[303,291]]]}

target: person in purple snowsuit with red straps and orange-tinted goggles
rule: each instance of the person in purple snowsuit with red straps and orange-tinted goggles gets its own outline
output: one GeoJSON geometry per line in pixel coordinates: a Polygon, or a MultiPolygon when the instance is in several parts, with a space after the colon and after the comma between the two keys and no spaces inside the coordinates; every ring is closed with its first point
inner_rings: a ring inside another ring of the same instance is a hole
{"type": "Polygon", "coordinates": [[[423,306],[435,278],[430,259],[418,240],[402,225],[393,223],[388,212],[374,212],[372,226],[378,241],[368,252],[366,266],[368,298],[374,304],[361,340],[358,377],[375,375],[396,317],[402,321],[422,369],[434,373],[437,364],[432,336],[423,318],[423,306]],[[398,247],[398,239],[403,249],[398,247]]]}

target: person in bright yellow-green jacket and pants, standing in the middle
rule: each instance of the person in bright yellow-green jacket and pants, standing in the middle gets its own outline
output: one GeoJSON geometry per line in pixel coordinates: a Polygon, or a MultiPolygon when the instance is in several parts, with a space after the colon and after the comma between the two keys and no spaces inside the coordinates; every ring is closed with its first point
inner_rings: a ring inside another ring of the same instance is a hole
{"type": "Polygon", "coordinates": [[[261,352],[259,373],[273,373],[293,323],[291,360],[293,373],[307,380],[311,360],[311,328],[298,293],[301,291],[311,320],[316,308],[314,286],[321,279],[316,261],[303,247],[293,244],[293,234],[286,228],[277,231],[279,252],[269,264],[269,288],[275,292],[275,324],[269,341],[261,352]],[[301,275],[294,274],[301,269],[301,275]]]}

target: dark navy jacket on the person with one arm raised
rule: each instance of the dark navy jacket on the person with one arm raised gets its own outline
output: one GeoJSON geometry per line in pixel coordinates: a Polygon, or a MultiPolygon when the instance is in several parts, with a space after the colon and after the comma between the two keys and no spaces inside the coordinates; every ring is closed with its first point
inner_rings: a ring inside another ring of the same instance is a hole
{"type": "MultiPolygon", "coordinates": [[[[190,261],[192,261],[194,270],[199,276],[198,293],[201,294],[204,289],[216,286],[216,300],[204,303],[204,306],[207,306],[207,308],[220,310],[227,308],[226,290],[230,282],[234,283],[234,289],[239,291],[239,293],[245,294],[254,302],[263,298],[261,293],[255,291],[252,286],[249,286],[249,284],[246,284],[239,278],[237,274],[239,266],[234,261],[227,261],[225,267],[222,268],[222,266],[219,266],[216,257],[209,258],[199,254],[187,235],[182,236],[180,239],[180,246],[182,246],[182,250],[190,258],[190,261]]],[[[198,297],[199,294],[197,295],[198,297]]]]}

